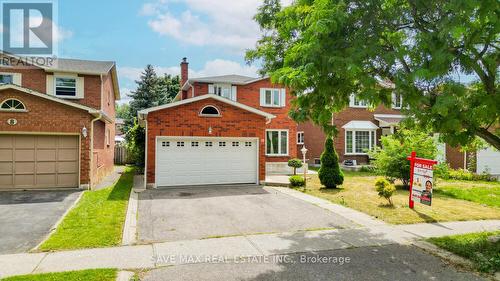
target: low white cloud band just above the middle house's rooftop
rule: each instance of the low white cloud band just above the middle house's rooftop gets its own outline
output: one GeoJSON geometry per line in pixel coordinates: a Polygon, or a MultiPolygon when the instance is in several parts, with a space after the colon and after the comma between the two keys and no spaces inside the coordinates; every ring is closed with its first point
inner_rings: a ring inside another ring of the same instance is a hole
{"type": "MultiPolygon", "coordinates": [[[[171,74],[171,75],[180,75],[181,69],[180,66],[155,66],[154,67],[156,73],[158,75],[163,74],[171,74]]],[[[205,63],[202,69],[189,69],[189,77],[204,77],[204,76],[217,76],[217,75],[226,75],[226,74],[239,74],[250,77],[257,77],[256,66],[252,65],[241,65],[235,61],[223,60],[223,59],[215,59],[205,63]]],[[[144,71],[144,68],[140,67],[119,67],[118,74],[120,77],[125,78],[129,81],[138,80],[141,72],[144,71]]]]}

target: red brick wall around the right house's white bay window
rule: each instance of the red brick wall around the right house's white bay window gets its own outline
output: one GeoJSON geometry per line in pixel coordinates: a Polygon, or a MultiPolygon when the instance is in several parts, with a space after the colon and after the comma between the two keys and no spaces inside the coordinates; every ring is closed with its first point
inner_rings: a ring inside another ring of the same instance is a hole
{"type": "MultiPolygon", "coordinates": [[[[348,107],[342,112],[334,114],[333,122],[338,129],[338,135],[334,138],[335,149],[339,155],[339,161],[343,162],[345,159],[353,159],[358,162],[358,164],[368,163],[368,156],[366,155],[345,155],[345,130],[342,126],[350,121],[370,121],[375,125],[379,125],[379,122],[375,120],[374,114],[396,114],[400,115],[401,111],[396,109],[389,109],[384,106],[379,106],[375,111],[369,111],[366,108],[352,108],[348,107]]],[[[315,158],[320,158],[323,152],[323,146],[325,141],[325,134],[322,130],[314,126],[312,123],[308,122],[305,124],[299,124],[298,131],[304,131],[304,142],[308,149],[308,159],[309,163],[313,164],[315,158]]],[[[377,130],[377,144],[379,144],[378,139],[382,135],[382,129],[377,130]]],[[[298,152],[300,154],[300,152],[298,152]]]]}

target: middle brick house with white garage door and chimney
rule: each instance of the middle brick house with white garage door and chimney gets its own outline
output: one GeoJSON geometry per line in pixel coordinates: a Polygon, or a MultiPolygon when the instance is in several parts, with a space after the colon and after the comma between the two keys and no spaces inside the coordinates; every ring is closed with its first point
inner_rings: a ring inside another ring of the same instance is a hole
{"type": "Polygon", "coordinates": [[[260,183],[297,154],[290,90],[269,78],[190,78],[174,102],[142,110],[147,187],[260,183]]]}

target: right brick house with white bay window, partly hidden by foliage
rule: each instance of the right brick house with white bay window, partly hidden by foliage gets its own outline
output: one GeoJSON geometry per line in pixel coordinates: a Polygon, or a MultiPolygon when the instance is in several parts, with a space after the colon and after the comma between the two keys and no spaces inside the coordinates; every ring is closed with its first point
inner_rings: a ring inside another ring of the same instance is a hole
{"type": "MultiPolygon", "coordinates": [[[[393,94],[390,108],[380,105],[368,110],[366,101],[351,95],[349,107],[332,116],[332,124],[338,129],[334,145],[339,161],[345,166],[368,164],[370,159],[366,151],[380,146],[381,136],[393,134],[398,129],[399,122],[404,118],[401,114],[402,103],[402,97],[393,94]]],[[[297,151],[300,154],[300,149],[305,145],[310,165],[321,164],[325,138],[322,129],[312,122],[298,125],[297,151]]],[[[438,144],[438,160],[448,162],[454,169],[465,168],[467,163],[464,152],[447,144],[438,144]]]]}

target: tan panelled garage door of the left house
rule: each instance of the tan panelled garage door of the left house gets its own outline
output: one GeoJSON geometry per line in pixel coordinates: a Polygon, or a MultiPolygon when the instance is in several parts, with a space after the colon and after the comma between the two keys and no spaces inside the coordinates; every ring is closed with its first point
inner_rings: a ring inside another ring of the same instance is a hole
{"type": "Polygon", "coordinates": [[[0,135],[0,190],[76,188],[79,136],[0,135]]]}

